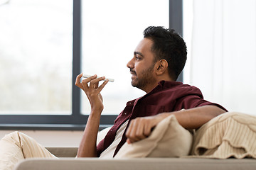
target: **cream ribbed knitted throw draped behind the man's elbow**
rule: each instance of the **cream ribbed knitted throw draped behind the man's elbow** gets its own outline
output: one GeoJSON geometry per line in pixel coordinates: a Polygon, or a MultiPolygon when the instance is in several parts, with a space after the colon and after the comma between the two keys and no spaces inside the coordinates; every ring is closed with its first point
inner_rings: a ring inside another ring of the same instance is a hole
{"type": "Polygon", "coordinates": [[[191,157],[256,158],[256,117],[224,113],[196,131],[191,157]]]}

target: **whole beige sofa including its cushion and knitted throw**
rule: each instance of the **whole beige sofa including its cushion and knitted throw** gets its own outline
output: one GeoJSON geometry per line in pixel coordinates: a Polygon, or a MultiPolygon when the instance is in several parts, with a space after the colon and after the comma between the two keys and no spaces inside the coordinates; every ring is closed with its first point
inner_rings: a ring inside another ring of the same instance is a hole
{"type": "MultiPolygon", "coordinates": [[[[174,116],[166,119],[149,139],[122,147],[122,153],[112,159],[75,158],[78,148],[48,147],[59,159],[24,159],[14,169],[256,169],[255,116],[224,113],[193,135],[175,123],[174,116]]],[[[97,142],[107,131],[99,132],[97,142]]]]}

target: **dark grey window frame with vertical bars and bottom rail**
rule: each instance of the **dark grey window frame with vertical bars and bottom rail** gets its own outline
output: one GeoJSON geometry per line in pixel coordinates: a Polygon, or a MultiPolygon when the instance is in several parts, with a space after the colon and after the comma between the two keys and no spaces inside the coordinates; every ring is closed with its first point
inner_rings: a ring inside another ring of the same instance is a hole
{"type": "MultiPolygon", "coordinates": [[[[84,130],[89,115],[81,114],[80,89],[75,79],[81,72],[82,1],[73,0],[73,74],[71,115],[0,115],[0,130],[84,130]]],[[[169,0],[169,28],[183,35],[183,1],[169,0]]],[[[178,81],[183,80],[183,73],[178,81]]],[[[113,125],[117,115],[102,115],[100,129],[113,125]]]]}

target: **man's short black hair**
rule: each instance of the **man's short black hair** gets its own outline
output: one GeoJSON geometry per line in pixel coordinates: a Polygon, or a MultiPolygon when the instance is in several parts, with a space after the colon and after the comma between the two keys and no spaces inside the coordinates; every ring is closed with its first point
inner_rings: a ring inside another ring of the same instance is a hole
{"type": "Polygon", "coordinates": [[[176,80],[181,74],[187,59],[186,43],[174,29],[161,26],[149,26],[144,30],[144,38],[153,41],[151,47],[155,60],[168,62],[169,76],[176,80]]]}

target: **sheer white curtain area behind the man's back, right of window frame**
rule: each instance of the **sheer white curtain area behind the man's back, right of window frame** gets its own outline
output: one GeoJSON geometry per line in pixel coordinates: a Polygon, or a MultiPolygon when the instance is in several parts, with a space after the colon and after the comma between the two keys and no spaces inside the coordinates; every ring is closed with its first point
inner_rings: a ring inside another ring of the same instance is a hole
{"type": "Polygon", "coordinates": [[[228,111],[256,115],[256,1],[183,2],[184,82],[228,111]]]}

